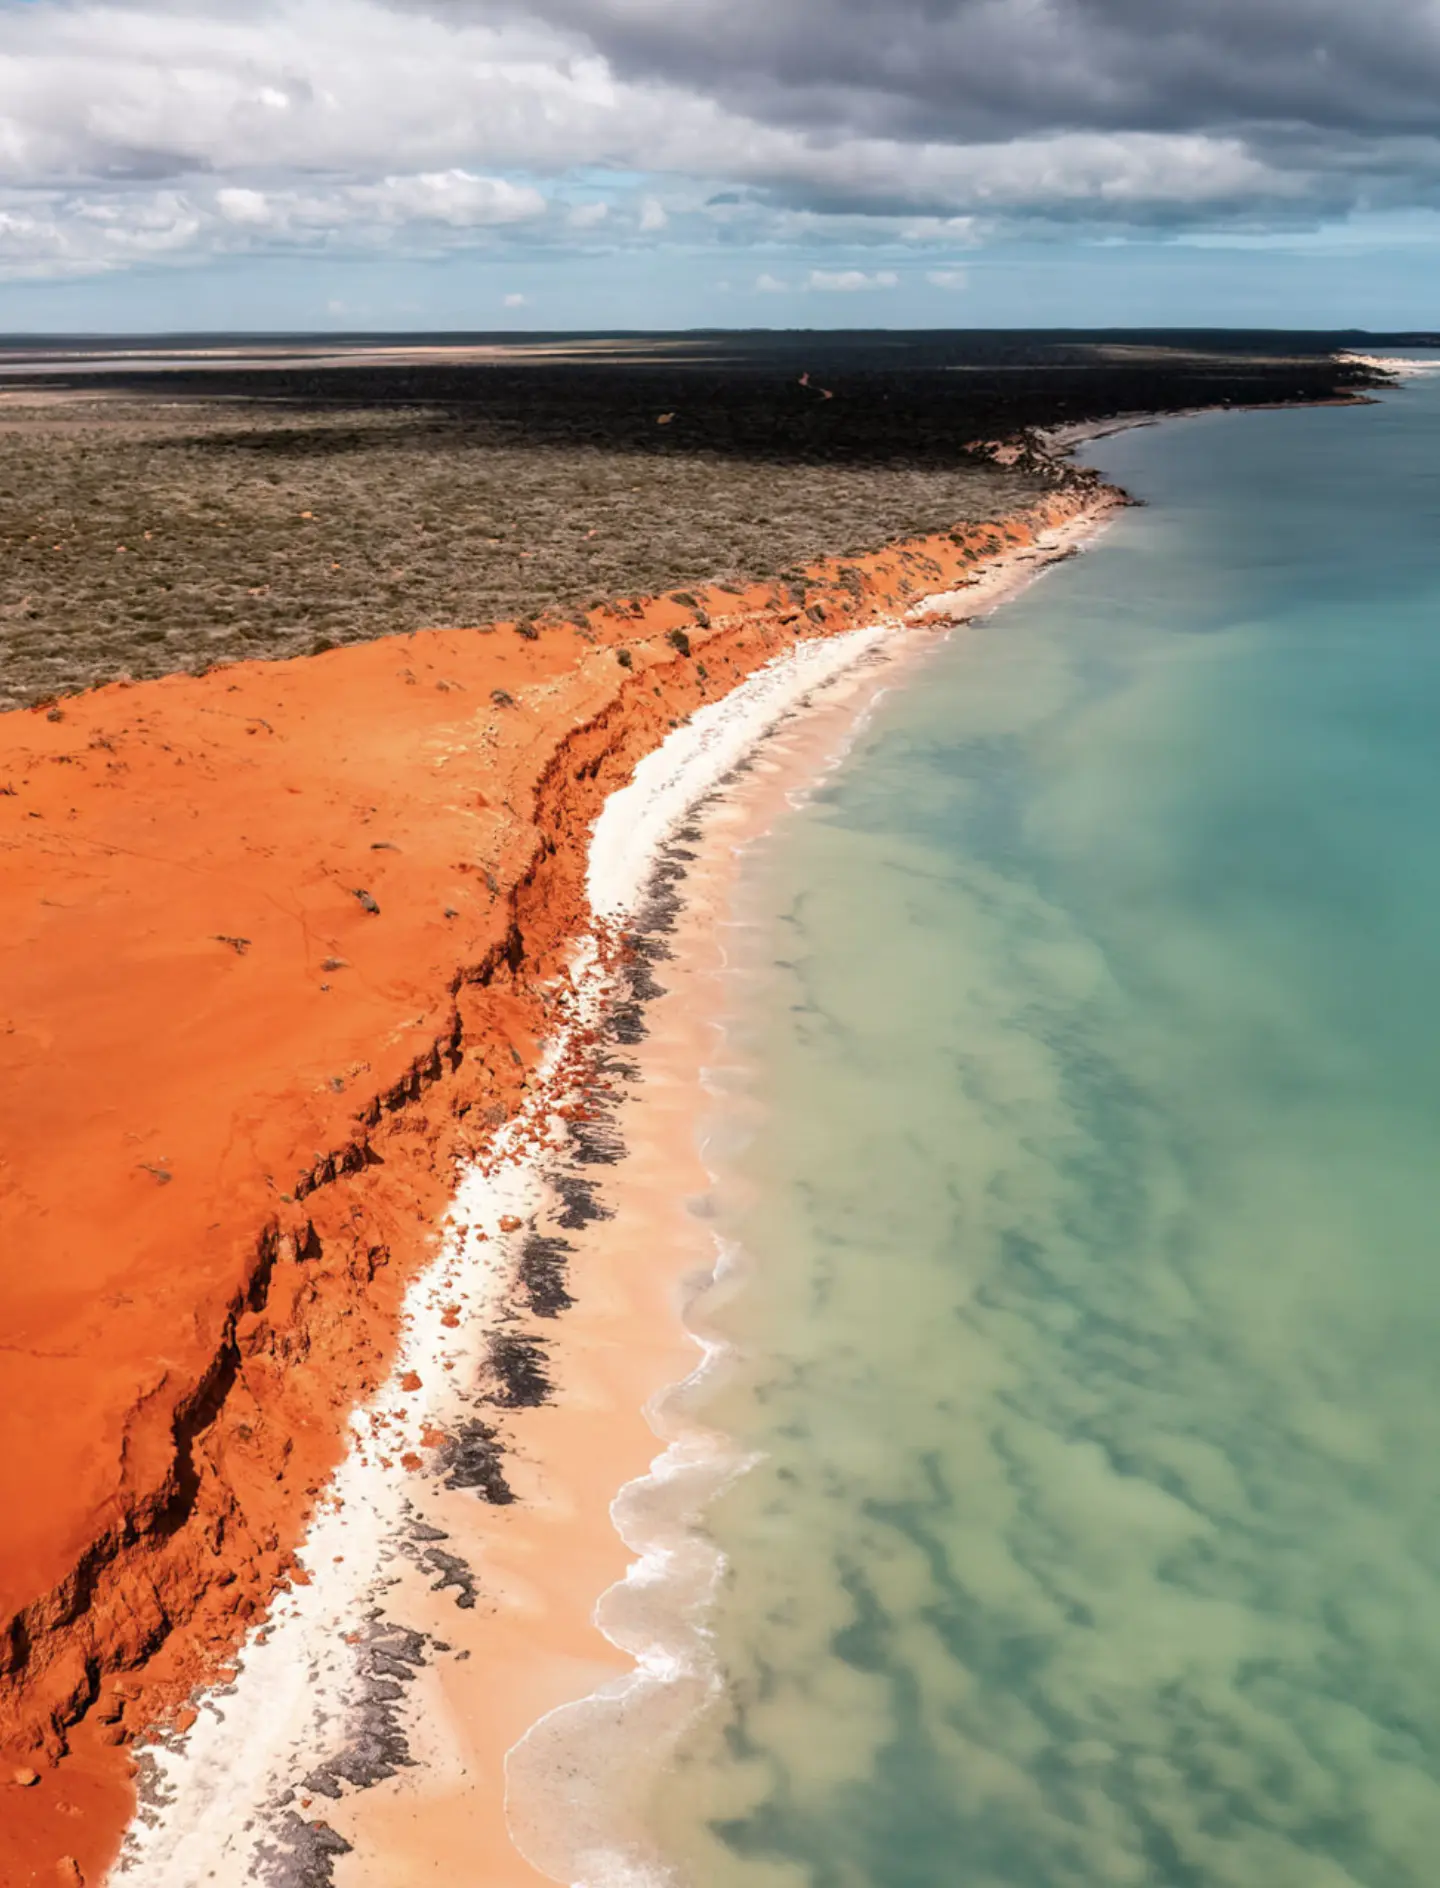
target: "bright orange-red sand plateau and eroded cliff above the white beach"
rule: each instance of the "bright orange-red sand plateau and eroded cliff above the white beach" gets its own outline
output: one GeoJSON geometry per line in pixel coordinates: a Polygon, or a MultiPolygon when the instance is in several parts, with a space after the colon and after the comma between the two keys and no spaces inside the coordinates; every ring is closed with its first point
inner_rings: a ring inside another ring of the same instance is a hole
{"type": "Polygon", "coordinates": [[[98,1877],[125,1745],[285,1576],[455,1161],[525,1084],[604,797],[795,636],[1083,502],[815,566],[804,602],[710,589],[0,719],[6,1888],[98,1877]]]}

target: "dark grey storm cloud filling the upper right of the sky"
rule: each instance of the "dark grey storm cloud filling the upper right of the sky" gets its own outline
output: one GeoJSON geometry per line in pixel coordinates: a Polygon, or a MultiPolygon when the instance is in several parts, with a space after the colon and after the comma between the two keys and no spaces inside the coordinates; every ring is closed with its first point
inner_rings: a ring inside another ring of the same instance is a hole
{"type": "Polygon", "coordinates": [[[904,140],[1057,130],[1440,130],[1432,0],[538,0],[627,77],[776,125],[904,140]]]}

